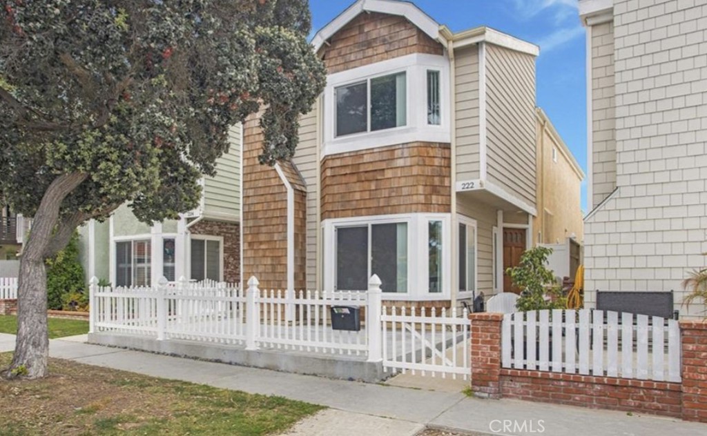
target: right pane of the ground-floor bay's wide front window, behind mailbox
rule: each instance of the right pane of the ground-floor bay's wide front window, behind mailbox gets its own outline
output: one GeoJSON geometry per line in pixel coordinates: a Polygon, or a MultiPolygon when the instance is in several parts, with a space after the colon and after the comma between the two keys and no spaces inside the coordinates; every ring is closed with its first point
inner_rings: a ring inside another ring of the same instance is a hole
{"type": "Polygon", "coordinates": [[[407,292],[407,223],[371,225],[370,273],[383,292],[407,292]]]}

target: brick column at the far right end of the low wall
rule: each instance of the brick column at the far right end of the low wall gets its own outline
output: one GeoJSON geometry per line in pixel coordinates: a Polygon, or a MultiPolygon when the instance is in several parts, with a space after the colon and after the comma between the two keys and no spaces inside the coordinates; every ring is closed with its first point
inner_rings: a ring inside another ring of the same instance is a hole
{"type": "Polygon", "coordinates": [[[707,423],[707,322],[681,321],[682,418],[707,423]]]}

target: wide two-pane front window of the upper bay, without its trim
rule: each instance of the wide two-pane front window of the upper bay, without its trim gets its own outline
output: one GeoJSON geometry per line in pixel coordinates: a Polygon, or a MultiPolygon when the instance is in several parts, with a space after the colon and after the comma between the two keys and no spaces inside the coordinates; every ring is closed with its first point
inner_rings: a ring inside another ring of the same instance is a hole
{"type": "Polygon", "coordinates": [[[337,136],[405,126],[406,83],[396,73],[336,88],[337,136]]]}

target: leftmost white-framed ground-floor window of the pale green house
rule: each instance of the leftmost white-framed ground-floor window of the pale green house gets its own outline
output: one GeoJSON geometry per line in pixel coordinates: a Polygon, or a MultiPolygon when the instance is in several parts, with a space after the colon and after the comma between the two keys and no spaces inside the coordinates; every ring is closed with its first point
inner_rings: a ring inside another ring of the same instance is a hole
{"type": "Polygon", "coordinates": [[[149,286],[152,272],[150,240],[115,242],[115,285],[149,286]]]}

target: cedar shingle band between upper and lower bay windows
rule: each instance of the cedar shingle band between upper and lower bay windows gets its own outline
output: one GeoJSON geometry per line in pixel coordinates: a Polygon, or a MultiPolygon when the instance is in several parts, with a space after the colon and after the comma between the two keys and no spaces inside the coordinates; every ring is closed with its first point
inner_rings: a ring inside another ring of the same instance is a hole
{"type": "Polygon", "coordinates": [[[449,211],[448,144],[373,148],[322,163],[322,219],[449,211]]]}

